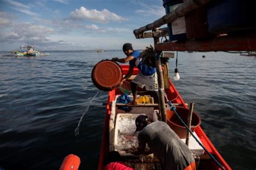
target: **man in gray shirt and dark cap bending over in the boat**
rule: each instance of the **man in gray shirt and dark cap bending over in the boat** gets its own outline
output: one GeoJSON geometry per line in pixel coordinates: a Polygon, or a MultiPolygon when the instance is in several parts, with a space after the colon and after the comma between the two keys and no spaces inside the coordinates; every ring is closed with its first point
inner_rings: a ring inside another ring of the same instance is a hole
{"type": "Polygon", "coordinates": [[[134,154],[145,154],[147,144],[164,169],[196,169],[190,149],[169,125],[163,121],[152,123],[146,115],[139,115],[135,123],[136,132],[140,132],[138,151],[134,154]]]}

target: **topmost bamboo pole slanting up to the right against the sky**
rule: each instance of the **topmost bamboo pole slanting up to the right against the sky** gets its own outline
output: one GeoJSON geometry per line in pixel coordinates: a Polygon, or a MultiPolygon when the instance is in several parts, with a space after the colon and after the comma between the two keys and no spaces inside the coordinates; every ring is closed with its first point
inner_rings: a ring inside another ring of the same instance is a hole
{"type": "Polygon", "coordinates": [[[212,0],[187,0],[182,5],[178,6],[174,11],[171,13],[167,13],[165,16],[159,18],[158,20],[154,21],[153,23],[147,24],[139,29],[133,31],[136,38],[139,38],[139,34],[145,31],[153,30],[159,28],[160,26],[171,23],[179,17],[185,16],[186,13],[199,8],[199,6],[206,5],[207,3],[211,2],[212,0]]]}

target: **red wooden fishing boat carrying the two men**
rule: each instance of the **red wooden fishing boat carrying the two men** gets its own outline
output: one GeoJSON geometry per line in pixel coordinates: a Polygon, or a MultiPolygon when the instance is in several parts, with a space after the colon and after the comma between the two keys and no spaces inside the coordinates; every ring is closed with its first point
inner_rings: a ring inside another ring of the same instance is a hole
{"type": "MultiPolygon", "coordinates": [[[[121,65],[122,71],[126,74],[129,70],[129,65],[121,65]]],[[[133,75],[136,75],[139,72],[138,69],[134,69],[133,75]]],[[[130,92],[129,84],[132,80],[133,76],[124,82],[122,87],[116,88],[109,92],[107,104],[106,104],[106,116],[105,116],[105,124],[103,130],[103,138],[102,138],[102,146],[100,149],[100,158],[99,158],[99,167],[98,169],[104,169],[104,159],[106,159],[107,153],[111,151],[118,151],[125,162],[131,165],[135,169],[160,169],[159,161],[153,155],[141,155],[140,157],[136,157],[129,153],[129,146],[132,147],[134,144],[134,140],[136,141],[136,135],[132,135],[130,132],[134,132],[136,125],[134,120],[136,117],[141,114],[147,114],[150,118],[156,117],[159,113],[158,104],[138,104],[138,105],[130,105],[131,111],[126,113],[125,111],[120,110],[118,107],[123,106],[122,104],[117,103],[117,98],[122,95],[124,92],[130,92]],[[130,120],[130,121],[129,121],[130,120]],[[126,122],[125,122],[126,121],[126,122]],[[130,124],[127,125],[127,121],[130,124]],[[122,126],[120,126],[122,125],[122,126]],[[125,126],[126,125],[126,126],[125,126]],[[122,128],[125,128],[126,135],[129,140],[126,140],[122,133],[122,128]],[[130,130],[129,130],[130,128],[130,130]],[[127,132],[128,131],[128,132],[127,132]],[[123,144],[122,139],[123,138],[123,144]],[[126,140],[126,141],[125,141],[126,140]],[[126,142],[126,143],[125,143],[126,142]],[[123,145],[123,146],[122,146],[123,145]]],[[[174,87],[171,79],[169,80],[170,87],[169,89],[165,89],[165,93],[167,94],[167,98],[172,102],[173,105],[176,105],[177,108],[185,108],[188,110],[187,104],[181,98],[179,92],[174,87]]],[[[138,94],[142,94],[143,96],[150,96],[153,101],[156,101],[156,98],[153,97],[153,94],[149,91],[144,91],[143,89],[138,90],[138,94]]],[[[167,105],[167,101],[165,102],[167,105]]],[[[168,113],[168,111],[167,111],[168,113]]],[[[169,114],[167,114],[167,121],[169,114]]],[[[155,119],[155,118],[154,118],[155,119]]],[[[212,142],[207,138],[207,135],[204,133],[203,129],[198,126],[194,129],[194,134],[201,141],[201,144],[204,145],[205,148],[214,155],[215,159],[225,168],[231,169],[226,161],[221,157],[217,149],[213,146],[212,142]]],[[[191,137],[192,138],[192,137],[191,137]]],[[[185,142],[185,139],[181,139],[185,142]]],[[[199,169],[218,169],[219,167],[215,164],[213,160],[207,157],[207,153],[204,152],[204,149],[196,144],[194,140],[191,140],[193,144],[191,144],[191,151],[201,158],[200,163],[197,161],[197,166],[199,169]],[[204,159],[204,157],[206,159],[204,159]]]]}

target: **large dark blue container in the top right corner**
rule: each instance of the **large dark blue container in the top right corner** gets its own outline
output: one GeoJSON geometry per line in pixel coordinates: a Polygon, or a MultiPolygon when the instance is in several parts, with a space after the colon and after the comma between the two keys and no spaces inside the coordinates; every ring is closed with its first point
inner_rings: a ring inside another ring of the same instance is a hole
{"type": "Polygon", "coordinates": [[[254,0],[219,0],[207,5],[208,31],[228,33],[255,29],[254,0]]]}

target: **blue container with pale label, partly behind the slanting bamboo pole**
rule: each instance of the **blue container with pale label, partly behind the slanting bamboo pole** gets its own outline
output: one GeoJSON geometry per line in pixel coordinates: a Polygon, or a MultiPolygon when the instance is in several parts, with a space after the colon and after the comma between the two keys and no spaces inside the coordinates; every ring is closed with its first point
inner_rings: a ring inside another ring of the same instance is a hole
{"type": "MultiPolygon", "coordinates": [[[[183,3],[182,0],[163,0],[165,13],[167,14],[172,12],[182,3],[183,3]]],[[[177,18],[171,24],[167,24],[167,26],[168,26],[170,41],[187,39],[185,16],[177,18]]]]}

